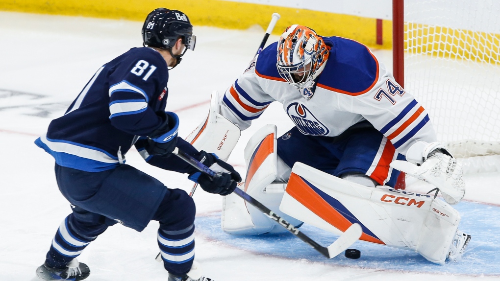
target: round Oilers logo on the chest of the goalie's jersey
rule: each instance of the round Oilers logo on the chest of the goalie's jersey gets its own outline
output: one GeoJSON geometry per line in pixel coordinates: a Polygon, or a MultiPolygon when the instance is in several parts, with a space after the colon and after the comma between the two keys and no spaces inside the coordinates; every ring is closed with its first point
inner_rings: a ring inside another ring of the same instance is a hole
{"type": "Polygon", "coordinates": [[[319,122],[303,104],[298,102],[289,104],[286,113],[304,135],[325,136],[329,133],[328,128],[319,122]]]}

